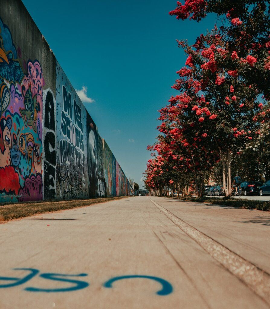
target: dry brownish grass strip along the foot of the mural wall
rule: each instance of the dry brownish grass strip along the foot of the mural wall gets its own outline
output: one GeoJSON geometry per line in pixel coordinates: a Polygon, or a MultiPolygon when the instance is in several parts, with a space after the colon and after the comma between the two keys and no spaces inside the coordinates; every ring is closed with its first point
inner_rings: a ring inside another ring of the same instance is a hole
{"type": "Polygon", "coordinates": [[[39,201],[18,204],[2,204],[0,205],[0,223],[13,219],[29,217],[35,214],[44,214],[52,211],[90,206],[93,204],[105,203],[122,198],[126,198],[126,196],[92,198],[87,200],[39,201]]]}

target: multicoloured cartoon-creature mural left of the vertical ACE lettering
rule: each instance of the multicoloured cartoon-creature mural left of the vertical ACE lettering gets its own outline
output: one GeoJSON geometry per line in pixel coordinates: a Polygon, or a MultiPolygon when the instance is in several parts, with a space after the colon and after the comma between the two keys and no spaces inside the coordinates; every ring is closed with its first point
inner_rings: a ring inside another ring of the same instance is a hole
{"type": "Polygon", "coordinates": [[[0,19],[0,200],[42,199],[42,87],[38,61],[23,73],[11,32],[0,19]]]}

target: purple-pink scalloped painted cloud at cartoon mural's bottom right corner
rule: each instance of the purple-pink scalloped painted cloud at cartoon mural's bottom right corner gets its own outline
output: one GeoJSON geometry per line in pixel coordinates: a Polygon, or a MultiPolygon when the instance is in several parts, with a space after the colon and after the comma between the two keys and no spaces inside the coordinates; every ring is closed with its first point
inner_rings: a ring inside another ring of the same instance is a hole
{"type": "Polygon", "coordinates": [[[24,182],[24,188],[19,190],[19,202],[42,200],[42,179],[41,175],[32,175],[27,177],[24,182]]]}

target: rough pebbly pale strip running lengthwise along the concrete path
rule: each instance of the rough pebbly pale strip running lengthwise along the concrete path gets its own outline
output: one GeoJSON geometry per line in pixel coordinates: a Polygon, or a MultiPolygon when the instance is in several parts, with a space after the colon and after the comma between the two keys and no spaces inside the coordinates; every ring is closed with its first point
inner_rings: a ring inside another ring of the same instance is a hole
{"type": "Polygon", "coordinates": [[[270,275],[267,272],[259,269],[256,265],[230,251],[221,243],[218,243],[216,240],[200,232],[152,199],[148,199],[215,260],[228,269],[230,273],[243,281],[251,290],[270,305],[270,275]]]}

